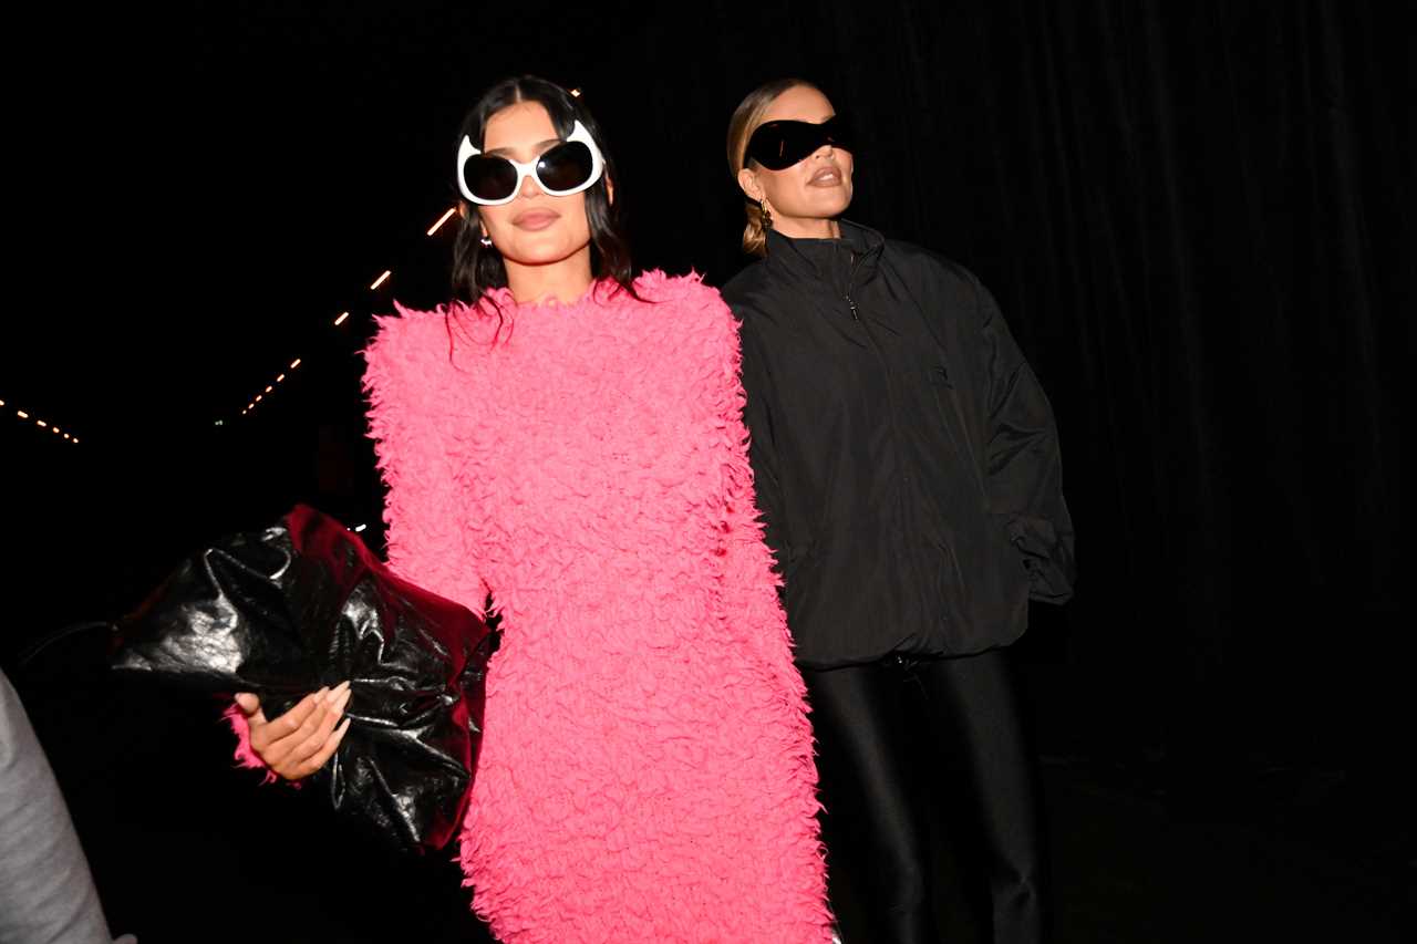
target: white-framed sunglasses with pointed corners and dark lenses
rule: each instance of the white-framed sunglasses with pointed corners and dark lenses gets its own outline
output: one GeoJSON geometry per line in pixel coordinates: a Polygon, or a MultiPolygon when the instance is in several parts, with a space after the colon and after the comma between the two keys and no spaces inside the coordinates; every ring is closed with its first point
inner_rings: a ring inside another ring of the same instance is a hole
{"type": "Polygon", "coordinates": [[[575,122],[570,137],[527,163],[483,154],[466,135],[458,146],[458,189],[480,207],[512,203],[527,177],[536,179],[547,196],[570,197],[599,180],[604,170],[601,149],[581,122],[575,122]]]}

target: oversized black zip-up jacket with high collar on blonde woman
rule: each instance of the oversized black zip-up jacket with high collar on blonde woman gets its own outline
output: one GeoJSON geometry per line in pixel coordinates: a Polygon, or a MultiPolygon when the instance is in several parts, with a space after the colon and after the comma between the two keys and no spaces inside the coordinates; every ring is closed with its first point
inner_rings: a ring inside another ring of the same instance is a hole
{"type": "Polygon", "coordinates": [[[801,665],[982,652],[1071,595],[1053,411],[973,275],[842,223],[723,295],[801,665]]]}

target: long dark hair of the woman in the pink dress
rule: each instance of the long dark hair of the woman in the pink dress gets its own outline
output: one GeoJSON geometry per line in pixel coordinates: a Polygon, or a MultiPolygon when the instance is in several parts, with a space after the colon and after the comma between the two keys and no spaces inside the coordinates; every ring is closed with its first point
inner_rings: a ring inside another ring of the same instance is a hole
{"type": "MultiPolygon", "coordinates": [[[[551,116],[551,125],[563,139],[571,135],[575,122],[581,122],[595,139],[605,157],[605,172],[585,191],[585,215],[591,224],[591,274],[597,279],[612,279],[621,289],[633,295],[629,241],[625,238],[619,207],[611,203],[606,187],[609,180],[619,183],[615,177],[615,162],[605,146],[599,123],[591,116],[581,98],[571,95],[555,82],[534,75],[502,79],[483,92],[478,103],[462,119],[462,126],[458,129],[458,137],[449,153],[456,153],[463,135],[482,147],[487,120],[503,108],[517,102],[537,102],[546,108],[547,115],[551,116]]],[[[458,193],[456,184],[453,193],[458,193]]],[[[506,286],[507,269],[502,262],[502,254],[480,242],[482,227],[479,225],[478,204],[463,200],[462,194],[458,193],[458,208],[462,223],[452,248],[452,292],[453,298],[476,303],[489,288],[506,286]]]]}

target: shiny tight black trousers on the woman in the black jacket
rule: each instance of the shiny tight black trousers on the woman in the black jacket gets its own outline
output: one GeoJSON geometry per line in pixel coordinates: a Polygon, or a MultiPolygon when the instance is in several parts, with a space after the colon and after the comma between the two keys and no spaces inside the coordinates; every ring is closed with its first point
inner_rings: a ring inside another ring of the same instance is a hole
{"type": "MultiPolygon", "coordinates": [[[[805,669],[818,736],[829,867],[850,865],[862,917],[846,944],[941,940],[931,821],[981,880],[995,944],[1037,944],[1047,926],[1037,768],[1006,652],[891,656],[805,669]],[[849,862],[843,862],[849,859],[849,862]]],[[[833,882],[833,886],[836,883],[833,882]]]]}

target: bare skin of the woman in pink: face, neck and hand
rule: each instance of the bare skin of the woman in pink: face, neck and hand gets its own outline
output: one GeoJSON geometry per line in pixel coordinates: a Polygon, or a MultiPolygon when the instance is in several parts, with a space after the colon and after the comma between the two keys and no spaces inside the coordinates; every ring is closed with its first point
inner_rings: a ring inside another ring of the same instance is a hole
{"type": "MultiPolygon", "coordinates": [[[[483,129],[482,150],[520,162],[536,160],[560,143],[551,116],[540,102],[517,102],[496,112],[483,129]]],[[[611,200],[615,190],[606,177],[611,200]]],[[[507,288],[517,302],[577,302],[591,289],[591,224],[585,191],[550,197],[534,177],[521,181],[517,198],[500,207],[478,207],[482,232],[502,255],[507,288]]],[[[266,720],[261,699],[237,695],[237,704],[251,727],[251,750],[285,780],[300,780],[320,770],[334,755],[349,719],[340,723],[350,700],[350,683],[300,699],[285,714],[266,720]]]]}

